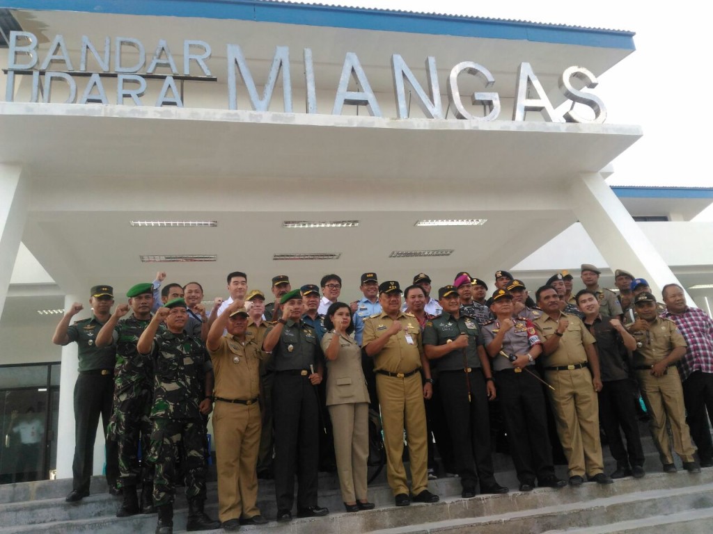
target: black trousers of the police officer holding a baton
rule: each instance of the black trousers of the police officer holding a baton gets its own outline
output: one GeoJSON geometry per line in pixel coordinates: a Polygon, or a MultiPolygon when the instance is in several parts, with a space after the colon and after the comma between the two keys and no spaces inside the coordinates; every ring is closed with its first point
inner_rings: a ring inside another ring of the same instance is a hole
{"type": "MultiPolygon", "coordinates": [[[[529,370],[537,374],[533,366],[529,370]]],[[[535,477],[542,482],[554,476],[545,394],[540,382],[528,371],[513,370],[496,372],[495,382],[518,481],[532,484],[535,477]]]]}

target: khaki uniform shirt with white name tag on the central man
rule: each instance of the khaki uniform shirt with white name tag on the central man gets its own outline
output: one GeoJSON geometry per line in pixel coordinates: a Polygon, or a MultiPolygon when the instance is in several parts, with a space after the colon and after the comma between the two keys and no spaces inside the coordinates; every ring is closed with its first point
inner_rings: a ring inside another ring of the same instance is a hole
{"type": "MultiPolygon", "coordinates": [[[[421,326],[419,320],[410,313],[399,312],[396,319],[404,325],[403,330],[389,337],[384,348],[374,356],[374,370],[388,372],[411,372],[421,367],[421,326]],[[409,342],[406,335],[411,337],[409,342]]],[[[364,321],[364,337],[362,346],[384,335],[384,332],[394,323],[386,313],[376,313],[364,321]]]]}

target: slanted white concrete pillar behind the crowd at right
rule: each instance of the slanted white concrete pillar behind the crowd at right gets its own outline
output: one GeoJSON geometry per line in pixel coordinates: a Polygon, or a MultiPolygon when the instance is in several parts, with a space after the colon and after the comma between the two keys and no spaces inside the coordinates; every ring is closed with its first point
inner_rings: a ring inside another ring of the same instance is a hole
{"type": "Polygon", "coordinates": [[[683,286],[600,174],[576,178],[571,195],[570,205],[612,271],[625,269],[646,278],[659,301],[667,283],[683,286]]]}

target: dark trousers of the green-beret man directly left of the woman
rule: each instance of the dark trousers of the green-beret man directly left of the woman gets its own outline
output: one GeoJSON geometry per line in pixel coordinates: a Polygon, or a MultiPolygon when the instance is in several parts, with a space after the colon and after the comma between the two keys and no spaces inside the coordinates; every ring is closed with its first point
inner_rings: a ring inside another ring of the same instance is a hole
{"type": "Polygon", "coordinates": [[[292,510],[295,471],[297,508],[317,506],[320,426],[317,390],[307,377],[276,372],[272,408],[277,509],[292,510]]]}

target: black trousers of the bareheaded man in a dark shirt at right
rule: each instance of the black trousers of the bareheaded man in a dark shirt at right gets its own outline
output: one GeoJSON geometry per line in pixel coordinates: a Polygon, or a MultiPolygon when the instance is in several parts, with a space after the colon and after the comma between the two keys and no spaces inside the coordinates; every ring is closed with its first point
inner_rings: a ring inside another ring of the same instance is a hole
{"type": "Polygon", "coordinates": [[[644,465],[636,407],[632,402],[634,390],[628,379],[604,382],[599,392],[599,420],[609,441],[609,450],[619,464],[644,465]],[[622,441],[621,429],[626,438],[622,441]]]}

